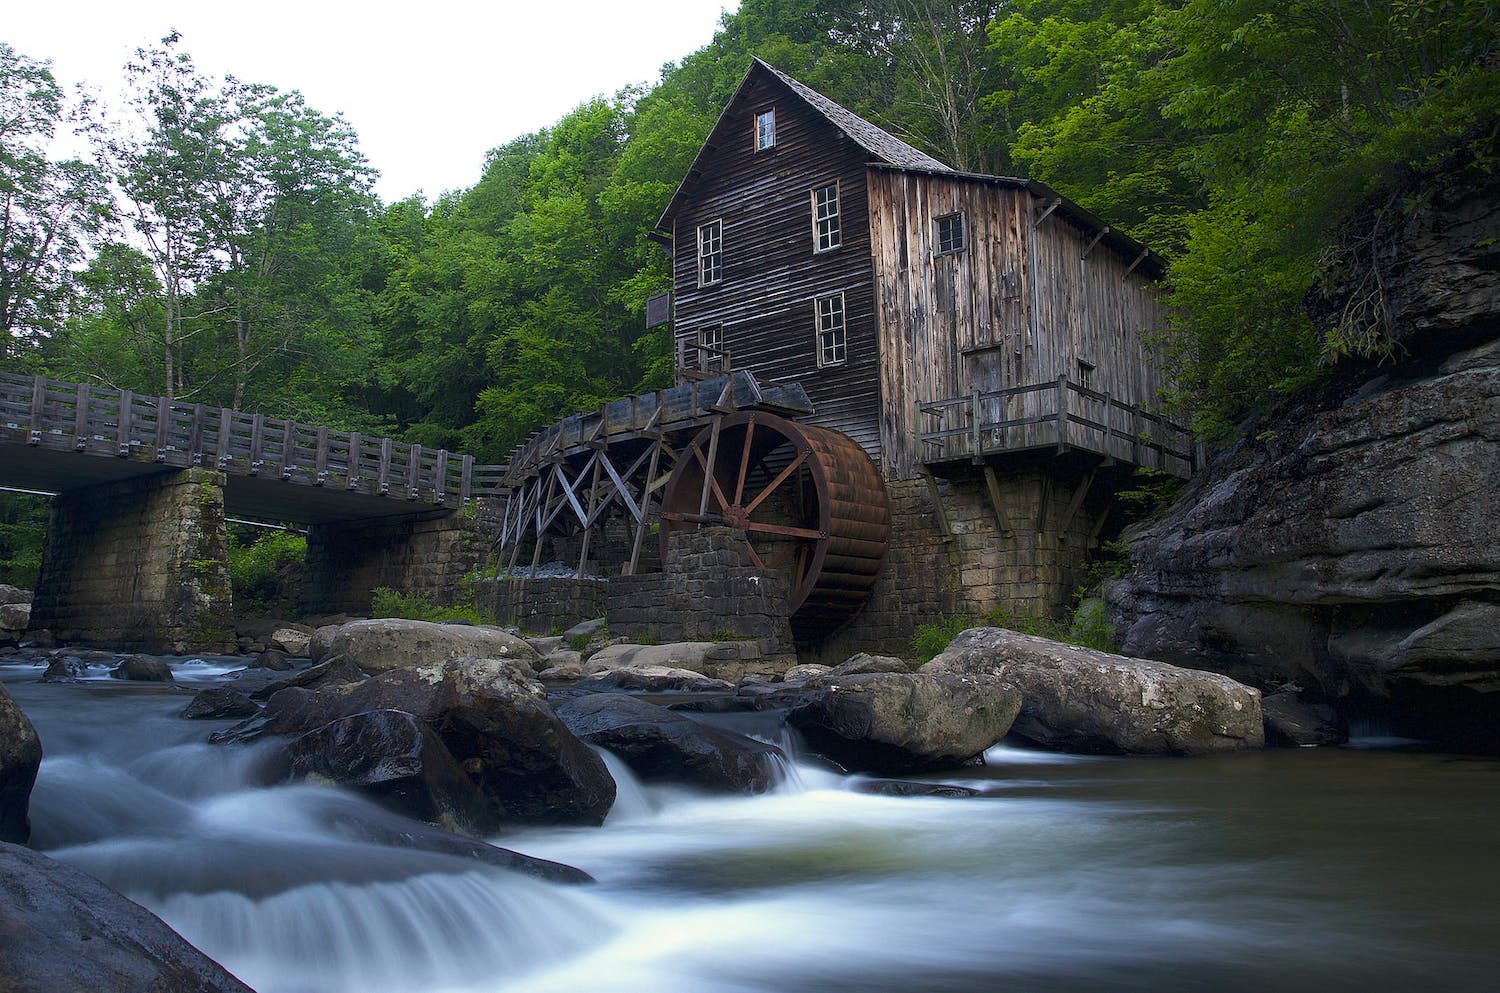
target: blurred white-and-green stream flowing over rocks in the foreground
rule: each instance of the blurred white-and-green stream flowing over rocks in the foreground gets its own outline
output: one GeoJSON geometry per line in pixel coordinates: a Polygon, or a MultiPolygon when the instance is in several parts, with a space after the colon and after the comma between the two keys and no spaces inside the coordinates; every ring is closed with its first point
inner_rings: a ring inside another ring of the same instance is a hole
{"type": "MultiPolygon", "coordinates": [[[[194,688],[242,664],[172,662],[194,688]]],[[[610,762],[603,828],[490,838],[598,880],[567,886],[414,849],[423,825],[345,790],[254,786],[258,750],[206,744],[230,722],[177,717],[182,688],[40,672],[0,664],[45,750],[33,846],[258,993],[1500,988],[1496,759],[1002,746],[927,777],[964,800],[812,762],[704,796],[610,762]]]]}

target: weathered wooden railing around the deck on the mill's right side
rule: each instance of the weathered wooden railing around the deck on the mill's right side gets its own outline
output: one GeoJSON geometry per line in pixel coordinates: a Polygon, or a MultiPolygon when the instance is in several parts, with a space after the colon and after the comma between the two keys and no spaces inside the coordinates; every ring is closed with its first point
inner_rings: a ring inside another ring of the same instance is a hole
{"type": "Polygon", "coordinates": [[[1160,414],[1072,382],[1052,382],[920,404],[922,462],[981,462],[1012,452],[1092,452],[1116,462],[1188,477],[1196,470],[1192,435],[1160,414]]]}

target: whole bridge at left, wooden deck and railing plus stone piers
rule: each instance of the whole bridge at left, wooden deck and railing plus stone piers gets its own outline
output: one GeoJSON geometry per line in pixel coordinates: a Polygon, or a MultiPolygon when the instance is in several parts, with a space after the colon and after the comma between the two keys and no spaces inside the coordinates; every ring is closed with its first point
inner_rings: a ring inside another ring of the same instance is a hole
{"type": "Polygon", "coordinates": [[[308,614],[447,594],[465,504],[504,466],[390,438],[0,372],[0,486],[57,494],[32,627],[146,651],[234,645],[225,516],[308,525],[308,614]]]}

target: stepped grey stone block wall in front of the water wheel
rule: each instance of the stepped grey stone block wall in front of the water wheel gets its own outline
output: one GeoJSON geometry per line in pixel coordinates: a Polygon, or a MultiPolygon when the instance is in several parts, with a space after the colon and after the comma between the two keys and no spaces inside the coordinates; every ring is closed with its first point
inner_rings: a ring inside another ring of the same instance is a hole
{"type": "Polygon", "coordinates": [[[656,642],[753,642],[762,658],[792,654],[786,588],[746,556],[742,531],[699,528],[670,538],[660,573],[609,580],[609,633],[656,642]]]}

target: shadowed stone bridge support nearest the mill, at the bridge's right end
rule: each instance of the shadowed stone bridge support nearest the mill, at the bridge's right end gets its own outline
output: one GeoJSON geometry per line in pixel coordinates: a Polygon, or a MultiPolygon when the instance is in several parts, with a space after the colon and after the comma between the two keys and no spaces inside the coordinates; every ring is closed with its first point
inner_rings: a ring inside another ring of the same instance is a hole
{"type": "Polygon", "coordinates": [[[308,530],[308,614],[368,615],[380,586],[454,603],[478,568],[478,534],[462,513],[350,520],[308,530]]]}

